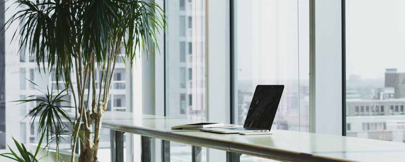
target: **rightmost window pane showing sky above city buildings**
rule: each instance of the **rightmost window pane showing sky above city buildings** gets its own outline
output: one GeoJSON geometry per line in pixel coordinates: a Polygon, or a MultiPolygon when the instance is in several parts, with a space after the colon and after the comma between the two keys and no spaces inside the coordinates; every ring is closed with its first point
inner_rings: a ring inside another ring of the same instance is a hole
{"type": "Polygon", "coordinates": [[[346,1],[347,136],[405,142],[404,5],[346,1]]]}

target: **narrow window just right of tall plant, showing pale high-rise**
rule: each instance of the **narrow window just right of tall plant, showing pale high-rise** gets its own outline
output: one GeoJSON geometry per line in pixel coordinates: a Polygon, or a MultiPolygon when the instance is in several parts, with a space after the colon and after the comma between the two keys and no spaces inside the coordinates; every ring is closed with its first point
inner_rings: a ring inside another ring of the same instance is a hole
{"type": "MultiPolygon", "coordinates": [[[[205,0],[165,0],[166,116],[205,120],[205,0]]],[[[171,142],[172,161],[191,145],[171,142]]]]}

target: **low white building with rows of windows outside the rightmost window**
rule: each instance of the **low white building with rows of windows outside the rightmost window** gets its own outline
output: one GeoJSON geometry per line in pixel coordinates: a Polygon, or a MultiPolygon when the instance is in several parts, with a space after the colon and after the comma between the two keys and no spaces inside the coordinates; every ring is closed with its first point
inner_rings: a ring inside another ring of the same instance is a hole
{"type": "Polygon", "coordinates": [[[346,100],[347,136],[404,142],[405,98],[346,100]]]}

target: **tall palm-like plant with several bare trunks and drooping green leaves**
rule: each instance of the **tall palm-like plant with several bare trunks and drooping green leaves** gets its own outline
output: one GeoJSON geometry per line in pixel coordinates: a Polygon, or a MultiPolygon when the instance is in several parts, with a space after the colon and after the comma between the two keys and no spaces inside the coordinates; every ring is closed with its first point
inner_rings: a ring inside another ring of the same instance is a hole
{"type": "Polygon", "coordinates": [[[21,5],[26,8],[4,27],[24,22],[13,39],[18,40],[20,49],[28,49],[35,56],[40,70],[55,70],[56,81],[62,78],[70,88],[76,106],[71,161],[79,132],[84,132],[79,160],[95,162],[120,46],[124,44],[123,59],[131,65],[141,50],[153,54],[158,47],[157,29],[166,25],[163,10],[148,0],[15,1],[14,6],[21,5]],[[98,87],[96,69],[102,71],[98,87]]]}

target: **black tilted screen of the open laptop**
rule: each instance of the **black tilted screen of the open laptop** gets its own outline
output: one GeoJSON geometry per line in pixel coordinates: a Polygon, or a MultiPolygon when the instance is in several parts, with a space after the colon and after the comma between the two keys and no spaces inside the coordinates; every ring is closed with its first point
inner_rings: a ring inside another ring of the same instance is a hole
{"type": "Polygon", "coordinates": [[[284,85],[258,85],[247,112],[244,127],[271,129],[284,85]]]}

